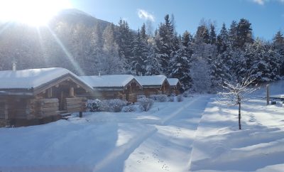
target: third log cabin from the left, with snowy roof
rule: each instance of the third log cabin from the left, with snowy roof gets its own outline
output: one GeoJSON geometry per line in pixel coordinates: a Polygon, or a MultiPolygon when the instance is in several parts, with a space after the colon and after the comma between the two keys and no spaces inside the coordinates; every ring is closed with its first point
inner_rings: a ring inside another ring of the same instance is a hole
{"type": "Polygon", "coordinates": [[[143,95],[170,95],[170,84],[165,75],[136,76],[143,86],[143,95]]]}

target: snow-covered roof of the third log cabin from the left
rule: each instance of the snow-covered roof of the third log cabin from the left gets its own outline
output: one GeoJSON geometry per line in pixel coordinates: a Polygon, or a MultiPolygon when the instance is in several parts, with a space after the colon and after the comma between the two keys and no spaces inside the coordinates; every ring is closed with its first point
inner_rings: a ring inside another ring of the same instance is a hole
{"type": "Polygon", "coordinates": [[[135,78],[142,86],[163,85],[167,79],[165,75],[136,76],[135,78]]]}

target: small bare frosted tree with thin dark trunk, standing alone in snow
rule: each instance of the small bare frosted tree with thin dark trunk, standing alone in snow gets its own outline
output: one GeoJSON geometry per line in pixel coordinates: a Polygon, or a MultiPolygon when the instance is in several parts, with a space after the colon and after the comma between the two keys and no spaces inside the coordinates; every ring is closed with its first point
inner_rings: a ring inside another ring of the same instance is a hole
{"type": "Polygon", "coordinates": [[[239,129],[241,129],[241,102],[248,100],[248,95],[257,90],[255,80],[247,77],[241,82],[229,83],[224,82],[222,85],[224,92],[218,92],[218,101],[228,106],[239,105],[239,129]]]}

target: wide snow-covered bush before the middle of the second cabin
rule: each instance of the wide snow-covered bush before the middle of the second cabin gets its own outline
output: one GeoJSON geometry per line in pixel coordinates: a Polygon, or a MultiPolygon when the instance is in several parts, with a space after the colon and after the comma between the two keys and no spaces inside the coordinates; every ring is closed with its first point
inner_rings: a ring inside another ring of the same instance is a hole
{"type": "Polygon", "coordinates": [[[105,100],[103,108],[107,112],[121,112],[121,109],[126,106],[126,101],[120,99],[105,100]]]}

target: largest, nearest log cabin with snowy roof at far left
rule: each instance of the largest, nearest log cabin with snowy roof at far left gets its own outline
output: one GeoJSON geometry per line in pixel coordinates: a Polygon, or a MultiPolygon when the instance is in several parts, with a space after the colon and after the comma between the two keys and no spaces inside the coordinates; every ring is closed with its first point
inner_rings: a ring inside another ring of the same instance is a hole
{"type": "Polygon", "coordinates": [[[64,68],[0,71],[0,125],[28,126],[83,112],[92,87],[64,68]]]}

